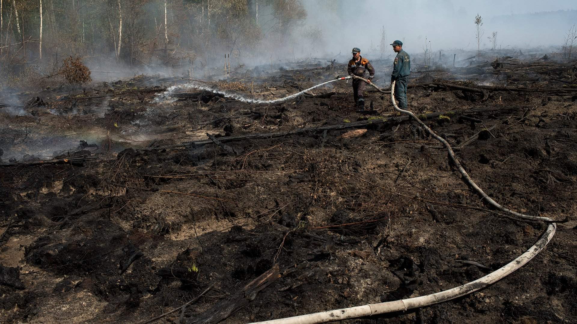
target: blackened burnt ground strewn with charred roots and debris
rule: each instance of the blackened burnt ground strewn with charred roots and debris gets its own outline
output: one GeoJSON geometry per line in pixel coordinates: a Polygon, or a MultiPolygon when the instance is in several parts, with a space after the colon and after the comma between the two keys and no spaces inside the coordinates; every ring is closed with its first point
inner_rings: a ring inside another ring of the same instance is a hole
{"type": "MultiPolygon", "coordinates": [[[[507,67],[487,64],[476,81],[451,81],[532,89],[486,90],[485,100],[415,73],[409,109],[448,111],[426,123],[497,202],[565,220],[552,242],[482,291],[343,322],[577,322],[577,67],[523,64],[500,79],[507,67]],[[472,108],[490,109],[462,112],[472,108]]],[[[343,69],[208,84],[276,99],[343,69]]],[[[546,227],[490,210],[416,123],[384,122],[398,116],[389,95],[367,88],[374,115],[355,112],[343,81],[272,106],[207,91],[155,100],[185,81],[44,89],[0,110],[0,322],[143,323],[193,299],[152,322],[199,322],[274,266],[280,275],[223,323],[422,296],[498,269],[546,227]],[[357,126],[189,143],[330,125],[357,126]]]]}

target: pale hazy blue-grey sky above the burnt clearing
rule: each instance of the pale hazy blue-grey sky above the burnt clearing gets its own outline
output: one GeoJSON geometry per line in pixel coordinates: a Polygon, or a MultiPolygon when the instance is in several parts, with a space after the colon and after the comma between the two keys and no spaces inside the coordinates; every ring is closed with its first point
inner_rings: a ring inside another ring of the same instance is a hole
{"type": "MultiPolygon", "coordinates": [[[[487,39],[492,32],[497,32],[497,48],[560,46],[565,32],[577,24],[575,0],[332,1],[332,11],[328,12],[325,7],[331,0],[302,1],[309,13],[306,25],[323,29],[324,46],[319,56],[350,51],[353,47],[368,52],[371,41],[373,48],[379,46],[381,27],[387,33],[387,45],[399,39],[407,51],[422,51],[425,37],[433,51],[477,50],[477,14],[484,22],[481,49],[492,46],[487,39]]],[[[387,51],[392,53],[391,48],[387,51]]]]}

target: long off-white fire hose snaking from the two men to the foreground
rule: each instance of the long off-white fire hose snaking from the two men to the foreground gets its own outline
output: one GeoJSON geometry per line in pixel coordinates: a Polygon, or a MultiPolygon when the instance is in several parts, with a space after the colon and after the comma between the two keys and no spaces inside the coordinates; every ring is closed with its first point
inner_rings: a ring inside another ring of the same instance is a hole
{"type": "MultiPolygon", "coordinates": [[[[367,82],[364,78],[353,76],[353,78],[362,80],[367,82]]],[[[344,79],[343,79],[344,80],[344,79]]],[[[372,82],[367,82],[369,85],[372,85],[377,91],[386,93],[372,82]]],[[[385,303],[376,303],[376,304],[367,304],[364,306],[357,306],[357,307],[349,307],[349,308],[341,308],[338,310],[331,310],[331,311],[324,311],[324,312],[317,312],[313,314],[306,314],[306,315],[299,315],[295,317],[287,317],[281,319],[273,319],[271,321],[264,321],[258,322],[258,324],[313,324],[313,323],[327,323],[333,321],[340,321],[343,319],[351,319],[351,318],[359,318],[359,317],[366,317],[370,315],[377,315],[377,314],[385,314],[389,312],[397,312],[397,311],[406,311],[413,308],[425,307],[430,306],[437,303],[447,302],[448,300],[455,299],[464,295],[468,295],[469,293],[473,293],[478,291],[479,289],[483,289],[488,285],[494,284],[501,280],[502,278],[508,276],[509,274],[515,272],[515,270],[521,268],[525,263],[529,262],[531,259],[535,257],[543,248],[549,243],[549,241],[555,235],[555,231],[557,229],[557,225],[554,223],[554,220],[548,217],[538,217],[538,216],[530,216],[526,214],[521,214],[518,212],[514,212],[507,208],[504,208],[492,198],[490,198],[481,188],[473,182],[471,177],[467,174],[464,170],[462,165],[459,163],[459,160],[455,156],[455,152],[451,148],[451,145],[444,138],[440,137],[433,130],[431,130],[421,119],[417,118],[413,114],[413,112],[402,110],[400,109],[396,102],[395,102],[395,82],[391,84],[391,100],[393,106],[396,111],[400,112],[401,114],[409,115],[413,118],[421,127],[423,127],[428,133],[440,141],[445,149],[447,149],[449,153],[449,159],[452,163],[459,169],[460,174],[463,176],[464,182],[469,184],[471,188],[481,196],[481,199],[484,199],[489,205],[492,205],[494,208],[500,210],[501,212],[512,214],[516,217],[526,218],[530,220],[540,220],[548,223],[545,232],[539,237],[537,242],[533,244],[525,253],[519,255],[519,257],[515,258],[513,261],[507,263],[503,267],[497,269],[496,271],[487,274],[484,277],[478,278],[477,280],[471,281],[467,284],[460,285],[459,287],[455,287],[452,289],[448,289],[445,291],[432,293],[430,295],[420,296],[420,297],[413,297],[408,299],[401,299],[395,300],[394,302],[385,302],[385,303]]],[[[253,323],[256,324],[256,323],[253,323]]]]}

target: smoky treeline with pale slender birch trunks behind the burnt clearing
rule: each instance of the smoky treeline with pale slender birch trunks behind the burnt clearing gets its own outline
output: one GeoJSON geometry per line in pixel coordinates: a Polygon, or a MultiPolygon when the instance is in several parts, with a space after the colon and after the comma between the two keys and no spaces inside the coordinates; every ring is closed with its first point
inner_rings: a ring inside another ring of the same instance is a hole
{"type": "MultiPolygon", "coordinates": [[[[319,5],[336,10],[330,0],[319,5]]],[[[322,33],[302,28],[307,12],[299,0],[0,0],[0,17],[3,73],[24,63],[57,69],[69,56],[130,67],[195,59],[209,66],[224,54],[291,51],[294,28],[311,43],[322,33]]]]}

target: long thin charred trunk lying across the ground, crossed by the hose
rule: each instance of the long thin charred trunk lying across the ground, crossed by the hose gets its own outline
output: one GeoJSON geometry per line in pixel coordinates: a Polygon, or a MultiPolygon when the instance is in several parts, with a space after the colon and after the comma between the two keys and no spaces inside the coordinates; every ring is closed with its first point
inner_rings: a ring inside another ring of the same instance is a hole
{"type": "MultiPolygon", "coordinates": [[[[454,114],[454,115],[463,115],[463,114],[475,114],[479,112],[489,112],[489,111],[497,111],[497,110],[512,110],[517,107],[509,106],[509,107],[482,107],[482,108],[473,108],[470,110],[452,110],[452,111],[437,111],[437,112],[429,112],[428,114],[423,114],[426,118],[434,118],[439,115],[443,114],[454,114]]],[[[369,125],[379,125],[388,122],[406,122],[410,120],[409,116],[394,116],[394,117],[383,117],[383,118],[376,118],[371,120],[360,120],[358,122],[351,122],[351,123],[344,123],[338,125],[329,125],[329,126],[320,126],[320,127],[304,127],[301,129],[289,130],[289,131],[281,131],[276,133],[257,133],[257,134],[247,134],[247,135],[240,135],[240,136],[225,136],[219,137],[218,140],[221,143],[225,142],[235,142],[235,141],[243,141],[243,140],[262,140],[265,138],[276,138],[276,137],[285,137],[288,135],[296,135],[296,134],[303,134],[303,133],[320,133],[323,131],[328,130],[342,130],[342,129],[351,129],[351,128],[361,128],[366,127],[369,125]]],[[[183,142],[181,144],[176,145],[168,145],[168,146],[157,146],[155,148],[142,148],[138,149],[139,151],[145,150],[162,150],[162,149],[170,149],[170,148],[182,148],[182,147],[192,147],[196,148],[198,146],[203,146],[207,144],[213,144],[212,140],[202,140],[202,141],[193,141],[193,142],[183,142]]]]}

